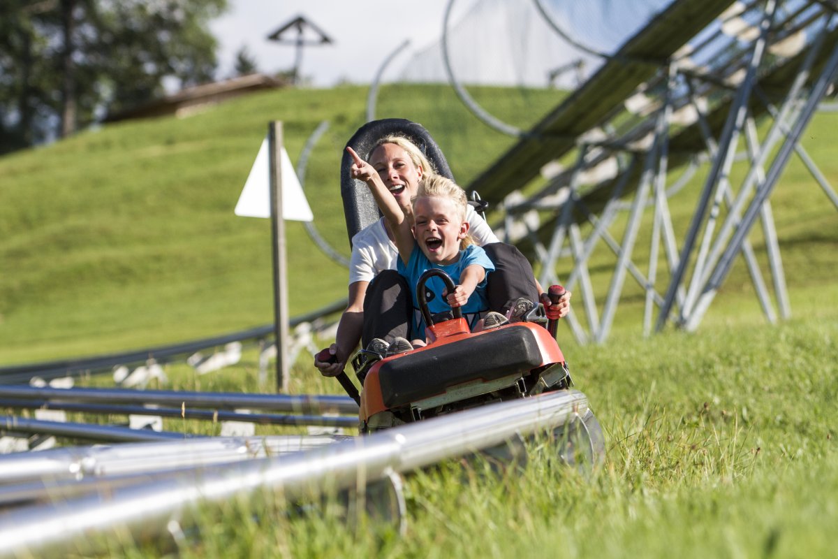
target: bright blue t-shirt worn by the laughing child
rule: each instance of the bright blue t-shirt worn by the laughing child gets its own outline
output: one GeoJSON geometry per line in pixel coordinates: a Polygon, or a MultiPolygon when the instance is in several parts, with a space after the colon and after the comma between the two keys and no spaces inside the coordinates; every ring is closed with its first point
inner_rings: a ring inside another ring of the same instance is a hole
{"type": "MultiPolygon", "coordinates": [[[[460,251],[460,258],[453,264],[442,266],[441,264],[434,264],[427,259],[425,253],[419,246],[414,246],[411,252],[411,259],[406,264],[398,259],[396,269],[407,280],[407,285],[411,287],[411,301],[413,302],[413,317],[411,319],[411,339],[425,339],[425,319],[422,318],[422,311],[419,310],[419,301],[416,299],[416,285],[419,283],[419,277],[431,268],[438,268],[448,274],[454,285],[459,285],[460,274],[463,273],[467,267],[472,264],[478,264],[486,270],[486,277],[482,282],[479,282],[475,287],[468,302],[460,307],[463,311],[463,318],[468,322],[469,328],[474,328],[481,313],[489,310],[489,300],[486,298],[486,278],[489,277],[489,272],[494,270],[494,264],[489,260],[489,256],[479,246],[469,245],[465,250],[460,251]]],[[[443,313],[451,310],[451,306],[442,298],[442,291],[445,289],[445,283],[440,277],[431,277],[425,282],[425,291],[427,292],[427,308],[430,313],[443,313]]]]}

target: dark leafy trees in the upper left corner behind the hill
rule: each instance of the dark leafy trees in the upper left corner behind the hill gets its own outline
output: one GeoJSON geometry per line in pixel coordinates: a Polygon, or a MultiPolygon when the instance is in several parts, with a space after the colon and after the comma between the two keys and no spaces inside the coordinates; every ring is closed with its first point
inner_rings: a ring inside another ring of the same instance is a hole
{"type": "Polygon", "coordinates": [[[4,0],[3,136],[18,147],[66,136],[162,94],[164,78],[182,86],[211,80],[216,41],[207,23],[226,7],[227,0],[4,0]]]}

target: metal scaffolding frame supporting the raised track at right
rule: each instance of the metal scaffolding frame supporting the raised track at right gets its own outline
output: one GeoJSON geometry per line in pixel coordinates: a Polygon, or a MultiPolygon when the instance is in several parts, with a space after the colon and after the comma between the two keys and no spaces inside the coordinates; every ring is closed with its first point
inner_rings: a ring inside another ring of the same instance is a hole
{"type": "MultiPolygon", "coordinates": [[[[546,185],[534,189],[527,184],[530,179],[506,185],[501,212],[506,239],[534,256],[542,285],[561,282],[560,270],[565,271],[566,288],[574,290],[579,284],[582,302],[567,323],[580,343],[608,339],[628,276],[643,292],[644,334],[660,331],[667,323],[696,329],[739,255],[768,321],[789,318],[769,196],[796,154],[838,208],[835,190],[799,145],[838,74],[835,23],[835,6],[830,3],[733,3],[709,26],[685,37],[674,53],[662,56],[665,63],[654,77],[603,111],[595,126],[577,133],[575,148],[558,147],[556,136],[542,136],[541,142],[530,137],[494,163],[493,168],[505,166],[504,176],[509,176],[519,164],[531,166],[536,159],[546,163],[548,153],[567,158],[576,150],[572,167],[555,174],[546,185]],[[768,132],[760,139],[758,124],[763,123],[768,132]],[[524,152],[525,161],[516,164],[524,152]],[[739,185],[732,184],[735,163],[738,171],[742,167],[747,171],[739,185]],[[592,179],[608,165],[616,171],[592,179]],[[686,171],[675,176],[680,168],[686,171]],[[679,246],[669,198],[698,168],[709,170],[679,246]],[[525,194],[510,196],[515,189],[525,194]],[[762,224],[769,280],[748,241],[757,220],[762,224]],[[618,225],[624,227],[619,241],[613,238],[618,225]],[[633,256],[640,231],[647,226],[644,274],[633,256]],[[526,233],[515,236],[516,228],[526,233]],[[601,308],[590,272],[592,266],[603,267],[602,257],[595,253],[600,241],[616,259],[601,308]],[[578,308],[584,313],[584,325],[578,308]]],[[[625,49],[639,40],[632,39],[625,49]]],[[[606,67],[601,73],[609,71],[613,72],[606,67]]],[[[597,76],[592,78],[596,80],[597,76]]],[[[572,102],[573,98],[565,104],[572,102]]],[[[549,129],[559,120],[555,115],[561,114],[560,107],[534,128],[534,135],[561,132],[549,129]]],[[[493,181],[487,172],[472,186],[485,183],[497,198],[501,187],[493,181]]]]}

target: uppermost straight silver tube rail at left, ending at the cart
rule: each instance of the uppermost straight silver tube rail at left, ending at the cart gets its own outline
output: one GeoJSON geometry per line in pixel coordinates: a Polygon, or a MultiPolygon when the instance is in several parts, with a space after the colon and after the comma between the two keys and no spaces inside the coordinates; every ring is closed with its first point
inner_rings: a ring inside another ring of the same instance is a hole
{"type": "Polygon", "coordinates": [[[28,398],[60,401],[105,402],[107,404],[155,404],[203,408],[245,408],[357,415],[358,404],[349,396],[288,396],[243,394],[241,392],[139,391],[125,388],[52,388],[49,386],[0,385],[0,398],[28,398]]]}

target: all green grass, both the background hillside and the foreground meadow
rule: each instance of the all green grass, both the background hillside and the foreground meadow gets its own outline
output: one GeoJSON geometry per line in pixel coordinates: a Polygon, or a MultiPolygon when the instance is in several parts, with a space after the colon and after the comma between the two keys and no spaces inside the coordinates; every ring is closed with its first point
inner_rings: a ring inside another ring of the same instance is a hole
{"type": "MultiPolygon", "coordinates": [[[[0,158],[0,365],[270,323],[268,224],[232,213],[266,123],[284,122],[296,162],[318,123],[330,122],[305,187],[318,230],[348,253],[339,158],[364,121],[365,95],[360,87],[270,92],[183,120],[116,124],[0,158]]],[[[560,96],[492,89],[473,95],[520,126],[537,121],[560,96]]],[[[463,184],[512,142],[465,115],[445,87],[385,87],[377,116],[422,122],[463,184]]],[[[804,138],[833,184],[836,129],[838,115],[819,114],[804,138]]],[[[679,238],[695,196],[688,190],[670,200],[679,238]]],[[[289,517],[272,496],[260,495],[204,510],[199,532],[171,555],[831,556],[838,523],[838,219],[796,160],[772,200],[789,321],[766,323],[739,262],[695,334],[667,330],[644,338],[642,297],[631,282],[608,344],[579,346],[561,330],[577,387],[606,434],[607,462],[589,477],[549,459],[549,448],[532,448],[536,458],[525,474],[504,479],[463,474],[453,464],[416,474],[407,479],[403,538],[381,526],[348,528],[330,510],[289,517]]],[[[318,251],[302,225],[289,224],[288,236],[292,314],[343,297],[345,269],[318,251]]],[[[761,238],[752,241],[764,265],[761,238]]],[[[637,261],[648,250],[648,236],[641,236],[637,261]]],[[[607,285],[609,272],[607,258],[592,262],[595,285],[607,285]]],[[[291,391],[340,393],[309,361],[303,355],[292,369],[291,391]]],[[[171,382],[162,387],[181,390],[273,388],[271,379],[260,383],[252,349],[219,373],[199,376],[174,364],[167,375],[171,382]]],[[[165,427],[218,430],[176,421],[165,427]]],[[[109,556],[164,552],[124,546],[116,536],[109,542],[109,556]]]]}

